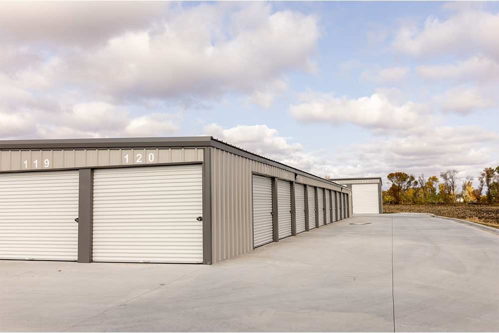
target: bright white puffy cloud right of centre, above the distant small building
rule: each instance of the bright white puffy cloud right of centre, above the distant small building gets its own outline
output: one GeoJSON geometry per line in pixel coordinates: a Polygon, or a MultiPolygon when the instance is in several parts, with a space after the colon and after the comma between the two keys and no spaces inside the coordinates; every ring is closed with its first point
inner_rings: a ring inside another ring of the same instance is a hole
{"type": "Polygon", "coordinates": [[[307,92],[301,95],[301,100],[302,103],[289,106],[288,113],[303,123],[351,123],[375,133],[407,133],[424,128],[427,122],[436,121],[430,115],[428,106],[411,101],[400,105],[382,91],[358,99],[307,92]]]}

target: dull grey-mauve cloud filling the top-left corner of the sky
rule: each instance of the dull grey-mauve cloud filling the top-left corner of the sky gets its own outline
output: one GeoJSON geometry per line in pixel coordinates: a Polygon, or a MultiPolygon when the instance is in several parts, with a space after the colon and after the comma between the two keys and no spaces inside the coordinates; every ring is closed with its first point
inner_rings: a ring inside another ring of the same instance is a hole
{"type": "Polygon", "coordinates": [[[6,1],[0,4],[0,38],[4,44],[96,46],[149,27],[168,6],[162,1],[6,1]]]}

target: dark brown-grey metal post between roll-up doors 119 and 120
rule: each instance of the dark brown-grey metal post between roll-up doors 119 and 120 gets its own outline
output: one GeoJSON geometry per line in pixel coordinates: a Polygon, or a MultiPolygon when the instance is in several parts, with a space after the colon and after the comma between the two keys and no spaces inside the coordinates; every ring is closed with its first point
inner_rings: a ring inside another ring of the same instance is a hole
{"type": "Polygon", "coordinates": [[[80,169],[78,180],[78,262],[92,262],[93,170],[80,169]]]}

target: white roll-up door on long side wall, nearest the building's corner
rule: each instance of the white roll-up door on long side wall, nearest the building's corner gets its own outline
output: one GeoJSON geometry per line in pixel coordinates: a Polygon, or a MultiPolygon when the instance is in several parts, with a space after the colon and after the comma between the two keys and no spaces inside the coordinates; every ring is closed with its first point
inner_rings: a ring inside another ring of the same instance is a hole
{"type": "Polygon", "coordinates": [[[253,246],[272,242],[272,180],[253,175],[253,246]]]}

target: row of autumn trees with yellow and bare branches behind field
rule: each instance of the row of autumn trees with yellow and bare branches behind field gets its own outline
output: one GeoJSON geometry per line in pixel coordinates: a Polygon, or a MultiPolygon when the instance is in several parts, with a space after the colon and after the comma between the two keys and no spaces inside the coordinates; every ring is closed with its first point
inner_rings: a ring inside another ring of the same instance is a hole
{"type": "Polygon", "coordinates": [[[478,186],[473,187],[473,176],[467,176],[461,186],[458,184],[458,170],[440,172],[440,178],[426,178],[421,174],[418,179],[413,174],[392,172],[388,174],[391,183],[383,191],[386,203],[499,203],[499,166],[486,167],[478,177],[478,186]],[[484,192],[485,191],[485,192],[484,192]]]}

